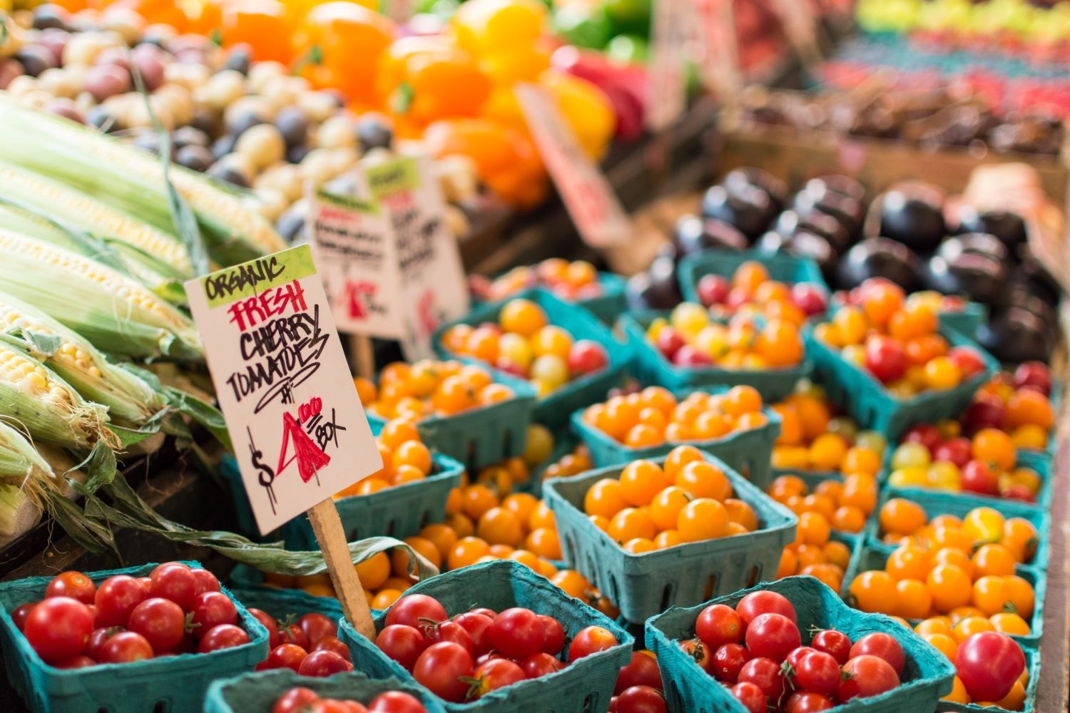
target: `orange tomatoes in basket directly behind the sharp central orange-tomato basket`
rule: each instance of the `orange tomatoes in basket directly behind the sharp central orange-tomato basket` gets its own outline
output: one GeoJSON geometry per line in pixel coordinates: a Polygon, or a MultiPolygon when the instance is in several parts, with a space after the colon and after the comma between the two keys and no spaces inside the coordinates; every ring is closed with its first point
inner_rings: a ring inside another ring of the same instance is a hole
{"type": "Polygon", "coordinates": [[[751,386],[724,393],[694,391],[679,401],[668,389],[648,386],[588,406],[583,420],[617,443],[645,448],[723,438],[759,429],[769,419],[762,413],[762,394],[751,386]]]}

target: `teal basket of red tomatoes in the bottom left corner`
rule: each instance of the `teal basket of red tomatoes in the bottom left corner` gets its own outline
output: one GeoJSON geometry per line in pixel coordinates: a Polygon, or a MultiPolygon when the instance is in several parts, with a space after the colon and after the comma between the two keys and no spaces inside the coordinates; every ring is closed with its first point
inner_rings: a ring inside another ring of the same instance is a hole
{"type": "Polygon", "coordinates": [[[197,562],[0,585],[7,679],[36,713],[199,711],[249,671],[268,632],[197,562]]]}

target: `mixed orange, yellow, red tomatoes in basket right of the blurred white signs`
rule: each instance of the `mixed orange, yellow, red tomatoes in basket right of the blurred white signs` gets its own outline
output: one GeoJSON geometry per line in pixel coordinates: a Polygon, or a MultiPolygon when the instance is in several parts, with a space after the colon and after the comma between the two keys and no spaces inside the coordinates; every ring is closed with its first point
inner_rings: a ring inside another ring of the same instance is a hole
{"type": "Polygon", "coordinates": [[[606,347],[591,339],[576,339],[530,299],[510,299],[498,323],[459,324],[442,336],[457,356],[471,357],[509,374],[526,378],[539,397],[571,381],[606,369],[606,347]]]}

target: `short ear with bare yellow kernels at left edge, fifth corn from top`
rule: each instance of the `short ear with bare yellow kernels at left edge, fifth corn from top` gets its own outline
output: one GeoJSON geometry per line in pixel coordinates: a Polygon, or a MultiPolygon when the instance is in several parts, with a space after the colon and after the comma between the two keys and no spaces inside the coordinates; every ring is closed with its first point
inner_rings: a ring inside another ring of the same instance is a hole
{"type": "Polygon", "coordinates": [[[107,408],[87,402],[58,374],[6,342],[0,342],[0,414],[34,439],[68,448],[98,440],[119,446],[105,425],[107,408]]]}

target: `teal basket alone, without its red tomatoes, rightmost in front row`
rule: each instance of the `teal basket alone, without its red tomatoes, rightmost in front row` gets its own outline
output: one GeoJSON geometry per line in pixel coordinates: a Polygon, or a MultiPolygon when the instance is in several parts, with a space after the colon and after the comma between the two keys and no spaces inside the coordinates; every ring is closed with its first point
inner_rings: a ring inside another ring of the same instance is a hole
{"type": "Polygon", "coordinates": [[[880,614],[847,607],[831,589],[813,577],[785,577],[714,599],[687,609],[672,608],[646,622],[646,646],[658,660],[666,699],[673,713],[747,713],[747,709],[720,682],[679,648],[694,637],[694,622],[710,604],[735,606],[753,591],[768,590],[788,598],[798,617],[802,640],[811,626],[836,629],[855,641],[866,634],[890,634],[903,647],[906,664],[895,689],[836,707],[837,713],[900,713],[932,711],[941,696],[951,691],[954,667],[917,634],[880,614]]]}

